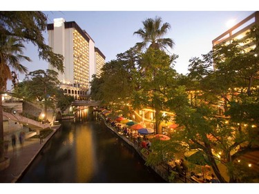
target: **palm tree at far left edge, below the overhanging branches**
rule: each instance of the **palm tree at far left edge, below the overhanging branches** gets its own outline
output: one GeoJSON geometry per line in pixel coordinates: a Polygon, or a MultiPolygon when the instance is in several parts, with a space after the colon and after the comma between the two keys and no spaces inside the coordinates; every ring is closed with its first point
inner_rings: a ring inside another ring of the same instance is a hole
{"type": "Polygon", "coordinates": [[[23,44],[15,37],[0,35],[0,161],[3,159],[3,107],[1,95],[6,90],[8,79],[12,79],[12,70],[27,72],[27,68],[20,64],[20,61],[29,57],[23,56],[23,44]]]}

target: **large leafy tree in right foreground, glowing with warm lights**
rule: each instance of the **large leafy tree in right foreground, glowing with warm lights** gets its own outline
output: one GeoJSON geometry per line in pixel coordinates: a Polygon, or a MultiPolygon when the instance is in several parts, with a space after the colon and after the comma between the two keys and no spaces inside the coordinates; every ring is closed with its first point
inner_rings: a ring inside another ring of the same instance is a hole
{"type": "MultiPolygon", "coordinates": [[[[244,153],[259,150],[258,35],[258,28],[251,28],[246,38],[223,43],[202,58],[192,58],[187,81],[191,86],[169,90],[167,106],[180,126],[178,134],[171,135],[171,145],[176,148],[175,144],[184,142],[189,148],[202,150],[220,182],[258,178],[244,159],[239,162],[244,153]],[[247,42],[255,42],[256,47],[248,50],[241,46],[247,42]],[[219,166],[226,168],[229,180],[219,166]]],[[[164,153],[182,152],[175,148],[165,146],[164,153]]]]}

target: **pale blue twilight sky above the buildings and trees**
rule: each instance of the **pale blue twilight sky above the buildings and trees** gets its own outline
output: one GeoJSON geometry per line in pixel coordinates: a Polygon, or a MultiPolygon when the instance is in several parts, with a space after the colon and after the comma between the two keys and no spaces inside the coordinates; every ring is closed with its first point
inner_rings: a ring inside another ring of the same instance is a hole
{"type": "MultiPolygon", "coordinates": [[[[95,2],[97,3],[94,6],[97,6],[99,1],[95,2]]],[[[207,10],[208,8],[206,9],[206,7],[203,9],[188,7],[185,10],[177,10],[176,7],[174,10],[170,10],[170,8],[164,8],[163,10],[159,6],[157,6],[157,11],[153,11],[155,10],[154,8],[151,8],[151,10],[150,8],[149,10],[148,8],[143,9],[141,6],[140,8],[129,6],[129,10],[127,10],[125,6],[122,6],[121,10],[119,8],[105,8],[104,6],[100,6],[99,10],[96,7],[93,10],[87,10],[87,6],[83,6],[78,10],[73,9],[73,6],[70,8],[69,5],[65,9],[66,11],[59,11],[57,8],[52,9],[50,7],[46,9],[44,6],[41,8],[41,6],[36,5],[36,10],[39,7],[48,15],[48,23],[53,23],[53,19],[61,17],[66,21],[75,21],[80,28],[86,30],[88,35],[92,37],[93,41],[95,41],[95,46],[106,56],[106,62],[116,59],[117,54],[125,52],[133,47],[135,43],[142,41],[140,37],[133,35],[133,32],[142,28],[142,21],[147,18],[155,18],[155,16],[161,17],[163,23],[168,22],[171,24],[171,30],[165,37],[171,38],[175,42],[175,47],[171,50],[171,52],[179,55],[175,70],[184,75],[188,72],[189,59],[207,54],[212,48],[211,41],[229,29],[227,21],[234,19],[233,24],[236,24],[255,12],[255,10],[242,9],[240,11],[207,10]]],[[[24,8],[21,8],[21,10],[24,10],[24,8]]],[[[25,10],[28,9],[26,8],[25,10]]],[[[29,8],[29,10],[31,9],[29,8]]],[[[35,10],[35,8],[32,8],[32,10],[35,10]]],[[[44,32],[44,37],[46,37],[46,43],[48,43],[47,32],[44,32]]],[[[48,64],[46,61],[39,61],[37,49],[31,44],[26,44],[26,47],[24,54],[30,57],[32,62],[24,61],[23,65],[29,71],[46,70],[48,64]]],[[[20,80],[23,78],[24,75],[19,75],[20,80]]]]}

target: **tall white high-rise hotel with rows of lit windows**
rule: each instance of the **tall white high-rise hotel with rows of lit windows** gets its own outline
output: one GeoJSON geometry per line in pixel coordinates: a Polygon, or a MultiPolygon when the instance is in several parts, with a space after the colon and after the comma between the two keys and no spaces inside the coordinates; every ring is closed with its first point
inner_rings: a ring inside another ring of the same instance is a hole
{"type": "MultiPolygon", "coordinates": [[[[58,75],[60,88],[75,99],[86,99],[92,75],[100,75],[105,64],[104,54],[75,21],[63,18],[48,24],[48,44],[53,52],[64,56],[64,73],[58,75]]],[[[57,71],[52,66],[48,68],[57,71]]]]}

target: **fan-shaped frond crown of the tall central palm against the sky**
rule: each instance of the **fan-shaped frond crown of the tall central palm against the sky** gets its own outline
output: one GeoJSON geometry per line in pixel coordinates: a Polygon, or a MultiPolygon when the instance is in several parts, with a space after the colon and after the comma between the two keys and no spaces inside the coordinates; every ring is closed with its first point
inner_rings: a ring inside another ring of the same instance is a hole
{"type": "Polygon", "coordinates": [[[144,28],[140,28],[133,33],[133,35],[139,35],[143,41],[136,43],[136,47],[139,50],[143,48],[155,48],[160,50],[167,50],[166,47],[169,46],[173,48],[174,42],[172,39],[163,38],[164,35],[171,29],[171,25],[169,23],[162,24],[161,17],[155,17],[155,19],[148,18],[142,22],[144,28]]]}

